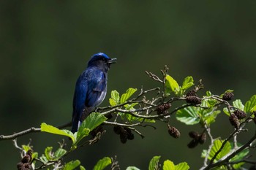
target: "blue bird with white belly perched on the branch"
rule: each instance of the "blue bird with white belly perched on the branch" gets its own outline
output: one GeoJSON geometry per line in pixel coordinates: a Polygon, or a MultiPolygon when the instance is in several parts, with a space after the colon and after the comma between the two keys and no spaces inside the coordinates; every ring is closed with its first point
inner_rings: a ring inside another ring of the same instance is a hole
{"type": "Polygon", "coordinates": [[[116,63],[116,58],[111,59],[105,53],[94,54],[87,69],[78,77],[73,98],[72,133],[78,131],[83,120],[104,100],[112,63],[116,63]]]}

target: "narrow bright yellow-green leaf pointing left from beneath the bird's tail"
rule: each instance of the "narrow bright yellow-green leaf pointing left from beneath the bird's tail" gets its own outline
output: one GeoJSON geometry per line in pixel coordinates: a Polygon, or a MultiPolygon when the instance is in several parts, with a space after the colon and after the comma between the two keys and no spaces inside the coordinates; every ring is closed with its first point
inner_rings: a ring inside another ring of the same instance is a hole
{"type": "Polygon", "coordinates": [[[50,134],[59,134],[63,136],[68,136],[70,139],[72,139],[72,142],[75,142],[75,136],[72,134],[71,131],[68,130],[60,130],[59,128],[56,128],[52,125],[48,125],[46,123],[41,124],[41,131],[48,132],[50,134]]]}

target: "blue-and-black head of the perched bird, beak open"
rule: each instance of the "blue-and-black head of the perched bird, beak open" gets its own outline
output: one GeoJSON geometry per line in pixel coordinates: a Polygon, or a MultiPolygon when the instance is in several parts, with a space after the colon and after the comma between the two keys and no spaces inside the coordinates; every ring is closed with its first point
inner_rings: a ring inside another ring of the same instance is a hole
{"type": "Polygon", "coordinates": [[[116,63],[116,58],[110,58],[105,53],[97,53],[91,56],[88,67],[97,66],[100,69],[108,71],[111,63],[116,63]]]}

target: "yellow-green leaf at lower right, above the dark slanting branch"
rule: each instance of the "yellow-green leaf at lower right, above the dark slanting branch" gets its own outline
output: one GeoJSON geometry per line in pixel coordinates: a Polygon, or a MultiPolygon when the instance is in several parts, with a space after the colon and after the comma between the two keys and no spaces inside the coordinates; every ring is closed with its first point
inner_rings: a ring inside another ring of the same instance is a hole
{"type": "MultiPolygon", "coordinates": [[[[211,147],[211,151],[210,151],[210,154],[208,156],[209,160],[211,160],[211,158],[214,157],[215,153],[220,149],[220,147],[222,146],[222,142],[224,142],[224,141],[221,141],[219,139],[214,141],[214,145],[211,147]]],[[[219,161],[219,159],[221,159],[222,157],[227,155],[227,153],[229,153],[230,150],[231,150],[231,144],[230,144],[230,142],[227,142],[225,144],[225,146],[222,148],[222,150],[219,152],[219,154],[217,155],[214,162],[219,161]]]]}

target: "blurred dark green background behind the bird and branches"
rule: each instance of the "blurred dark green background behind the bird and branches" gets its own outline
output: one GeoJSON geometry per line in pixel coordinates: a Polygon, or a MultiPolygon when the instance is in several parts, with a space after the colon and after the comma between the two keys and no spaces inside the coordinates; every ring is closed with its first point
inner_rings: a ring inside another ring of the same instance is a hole
{"type": "MultiPolygon", "coordinates": [[[[0,134],[12,134],[45,122],[67,123],[72,117],[75,81],[94,53],[118,58],[109,72],[110,90],[154,88],[145,70],[160,75],[167,65],[178,82],[192,76],[205,89],[221,94],[235,90],[246,101],[255,94],[256,1],[1,1],[0,2],[0,134]]],[[[147,169],[154,155],[162,161],[187,161],[191,169],[203,165],[200,152],[191,150],[187,133],[199,130],[173,119],[179,139],[166,125],[139,128],[146,136],[121,144],[112,128],[93,146],[83,147],[64,161],[79,159],[92,169],[100,158],[117,155],[121,169],[147,169]]],[[[212,126],[225,138],[231,125],[224,114],[212,126]]],[[[254,126],[252,128],[255,128],[254,126]]],[[[241,137],[241,142],[250,133],[241,137]]],[[[29,134],[18,139],[42,154],[58,147],[61,136],[29,134]]],[[[239,138],[240,140],[240,138],[239,138]]],[[[67,143],[69,141],[66,139],[67,143]]],[[[15,169],[20,161],[12,141],[0,142],[1,169],[15,169]]]]}

